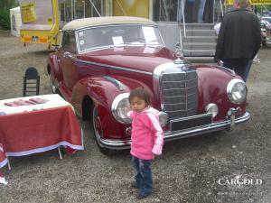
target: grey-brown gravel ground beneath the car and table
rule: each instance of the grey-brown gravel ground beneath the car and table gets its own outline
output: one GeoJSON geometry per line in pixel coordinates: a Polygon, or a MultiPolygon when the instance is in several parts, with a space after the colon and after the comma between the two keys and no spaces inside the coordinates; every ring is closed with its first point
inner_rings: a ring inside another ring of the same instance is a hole
{"type": "MultiPolygon", "coordinates": [[[[0,99],[22,97],[27,67],[39,69],[41,94],[51,93],[45,74],[49,51],[44,45],[23,47],[9,32],[0,31],[0,99]]],[[[129,152],[107,157],[98,151],[88,123],[80,121],[86,150],[66,155],[56,150],[10,158],[8,185],[0,185],[0,202],[271,202],[271,49],[259,51],[248,79],[251,120],[230,132],[166,143],[154,160],[154,194],[141,201],[130,188],[133,170],[129,152]],[[220,185],[236,175],[261,180],[249,189],[220,185]]]]}

